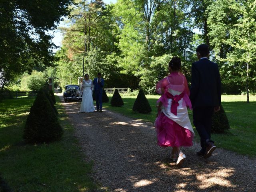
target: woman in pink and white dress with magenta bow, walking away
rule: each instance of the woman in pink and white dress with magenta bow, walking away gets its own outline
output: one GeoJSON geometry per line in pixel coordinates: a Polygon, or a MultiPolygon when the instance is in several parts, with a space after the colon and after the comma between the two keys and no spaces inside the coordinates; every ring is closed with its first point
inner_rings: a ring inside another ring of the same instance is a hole
{"type": "Polygon", "coordinates": [[[186,77],[181,73],[179,57],[169,62],[170,74],[156,84],[156,92],[162,94],[157,101],[158,116],[155,127],[158,145],[172,147],[172,160],[181,165],[186,158],[181,146],[192,146],[194,131],[188,117],[187,106],[191,109],[186,77]]]}

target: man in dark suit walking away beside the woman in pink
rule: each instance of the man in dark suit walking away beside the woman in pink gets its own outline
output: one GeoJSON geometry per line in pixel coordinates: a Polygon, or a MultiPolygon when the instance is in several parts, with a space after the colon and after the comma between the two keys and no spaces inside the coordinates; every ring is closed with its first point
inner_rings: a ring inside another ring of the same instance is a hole
{"type": "Polygon", "coordinates": [[[218,65],[211,62],[209,46],[201,44],[196,49],[198,61],[192,63],[190,100],[193,108],[193,123],[200,136],[202,149],[197,155],[208,158],[216,149],[211,140],[212,115],[220,110],[221,82],[218,65]]]}

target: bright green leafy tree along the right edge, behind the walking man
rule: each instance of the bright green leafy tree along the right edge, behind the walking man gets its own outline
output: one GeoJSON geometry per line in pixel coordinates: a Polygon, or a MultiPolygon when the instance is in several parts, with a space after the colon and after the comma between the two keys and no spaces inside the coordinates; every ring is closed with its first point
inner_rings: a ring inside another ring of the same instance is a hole
{"type": "Polygon", "coordinates": [[[210,6],[209,36],[216,59],[223,66],[222,76],[242,90],[255,92],[256,6],[252,1],[217,0],[210,6]],[[218,6],[216,6],[218,4],[218,6]]]}

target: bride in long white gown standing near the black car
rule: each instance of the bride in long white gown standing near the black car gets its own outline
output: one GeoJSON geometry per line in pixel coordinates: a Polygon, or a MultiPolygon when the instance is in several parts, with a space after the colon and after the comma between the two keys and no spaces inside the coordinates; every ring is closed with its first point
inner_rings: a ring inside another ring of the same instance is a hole
{"type": "Polygon", "coordinates": [[[89,79],[89,75],[85,74],[84,75],[84,80],[82,82],[82,88],[81,92],[83,93],[82,96],[82,103],[80,107],[80,113],[89,113],[89,112],[94,112],[95,108],[93,105],[93,100],[92,100],[92,90],[94,86],[92,83],[92,80],[89,79]]]}

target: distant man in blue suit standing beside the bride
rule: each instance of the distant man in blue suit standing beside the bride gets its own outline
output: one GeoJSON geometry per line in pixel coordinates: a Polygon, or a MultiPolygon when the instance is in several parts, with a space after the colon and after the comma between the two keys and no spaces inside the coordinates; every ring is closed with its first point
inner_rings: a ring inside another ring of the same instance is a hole
{"type": "Polygon", "coordinates": [[[94,78],[94,93],[96,98],[97,111],[102,112],[102,88],[104,86],[104,79],[101,78],[101,73],[98,73],[98,77],[94,78]]]}

